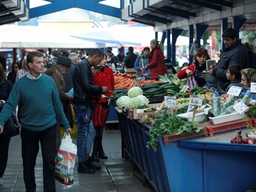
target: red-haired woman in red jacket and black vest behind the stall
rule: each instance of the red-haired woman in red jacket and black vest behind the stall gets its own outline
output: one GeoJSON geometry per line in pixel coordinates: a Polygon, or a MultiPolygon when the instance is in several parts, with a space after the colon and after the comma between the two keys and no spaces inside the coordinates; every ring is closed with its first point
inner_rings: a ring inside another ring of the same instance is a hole
{"type": "Polygon", "coordinates": [[[182,69],[178,72],[177,77],[179,79],[185,79],[188,76],[193,75],[199,87],[203,87],[206,81],[203,77],[203,70],[206,70],[206,60],[210,59],[208,52],[204,48],[198,48],[193,57],[194,62],[189,65],[188,68],[182,69]]]}

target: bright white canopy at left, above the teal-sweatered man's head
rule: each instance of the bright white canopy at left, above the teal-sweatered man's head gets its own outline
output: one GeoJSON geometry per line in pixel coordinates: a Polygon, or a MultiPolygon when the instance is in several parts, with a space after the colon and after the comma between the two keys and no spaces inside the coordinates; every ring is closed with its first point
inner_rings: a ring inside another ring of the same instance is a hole
{"type": "Polygon", "coordinates": [[[104,43],[85,41],[38,26],[0,26],[0,48],[98,48],[104,43]]]}

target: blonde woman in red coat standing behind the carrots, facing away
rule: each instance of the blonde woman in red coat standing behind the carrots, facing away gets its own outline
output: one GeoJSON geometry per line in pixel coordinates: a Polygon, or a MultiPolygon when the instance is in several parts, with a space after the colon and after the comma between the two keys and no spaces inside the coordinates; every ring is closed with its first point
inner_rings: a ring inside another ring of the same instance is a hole
{"type": "Polygon", "coordinates": [[[158,75],[167,74],[163,56],[163,45],[157,39],[153,39],[150,41],[150,48],[152,50],[149,54],[149,64],[145,66],[145,69],[150,68],[150,79],[158,80],[158,75]]]}

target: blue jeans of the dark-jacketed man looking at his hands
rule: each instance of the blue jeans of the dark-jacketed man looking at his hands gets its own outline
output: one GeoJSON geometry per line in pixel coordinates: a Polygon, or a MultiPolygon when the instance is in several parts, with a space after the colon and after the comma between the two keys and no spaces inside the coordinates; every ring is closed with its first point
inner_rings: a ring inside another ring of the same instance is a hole
{"type": "Polygon", "coordinates": [[[75,112],[75,122],[77,126],[77,157],[78,162],[86,160],[86,145],[89,134],[90,122],[92,119],[92,110],[90,107],[82,105],[73,105],[75,112]]]}

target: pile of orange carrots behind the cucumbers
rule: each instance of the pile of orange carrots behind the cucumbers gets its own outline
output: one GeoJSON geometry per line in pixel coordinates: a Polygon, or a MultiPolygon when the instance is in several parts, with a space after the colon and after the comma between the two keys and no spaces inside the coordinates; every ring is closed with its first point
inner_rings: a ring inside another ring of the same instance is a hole
{"type": "MultiPolygon", "coordinates": [[[[132,87],[135,87],[137,84],[137,79],[130,79],[127,77],[122,77],[122,76],[114,76],[115,79],[115,89],[130,89],[132,87]]],[[[157,80],[143,80],[140,82],[139,86],[146,85],[149,83],[157,83],[160,81],[157,80]]]]}

